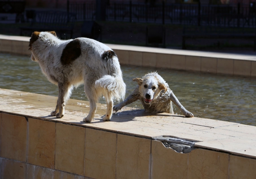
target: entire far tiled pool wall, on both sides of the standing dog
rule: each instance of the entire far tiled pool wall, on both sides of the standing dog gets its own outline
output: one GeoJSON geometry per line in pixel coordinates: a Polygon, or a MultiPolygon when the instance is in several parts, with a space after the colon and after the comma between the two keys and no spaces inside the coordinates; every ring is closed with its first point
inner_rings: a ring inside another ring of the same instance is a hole
{"type": "MultiPolygon", "coordinates": [[[[14,39],[17,40],[0,38],[0,52],[30,55],[31,52],[28,50],[28,39],[23,40],[23,38],[25,37],[15,37],[14,39]]],[[[134,46],[131,48],[136,49],[134,46]]],[[[191,53],[189,55],[188,52],[184,55],[182,54],[182,51],[180,51],[180,55],[177,55],[166,53],[167,51],[162,52],[161,49],[157,51],[157,48],[154,48],[155,52],[149,52],[149,49],[145,49],[145,52],[127,50],[125,48],[120,50],[121,48],[116,49],[115,46],[113,46],[112,49],[118,55],[120,64],[124,65],[150,66],[212,74],[256,77],[256,61],[236,58],[232,59],[232,57],[236,57],[236,55],[230,55],[230,58],[226,59],[219,58],[219,56],[214,57],[211,53],[208,54],[208,57],[200,56],[199,53],[191,53]]]]}

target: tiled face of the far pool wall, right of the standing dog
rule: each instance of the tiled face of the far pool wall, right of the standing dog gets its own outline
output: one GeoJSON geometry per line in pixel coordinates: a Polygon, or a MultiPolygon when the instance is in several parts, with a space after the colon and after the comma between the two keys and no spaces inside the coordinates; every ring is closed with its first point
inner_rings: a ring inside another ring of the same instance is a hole
{"type": "Polygon", "coordinates": [[[256,77],[256,61],[113,50],[125,65],[256,77]]]}

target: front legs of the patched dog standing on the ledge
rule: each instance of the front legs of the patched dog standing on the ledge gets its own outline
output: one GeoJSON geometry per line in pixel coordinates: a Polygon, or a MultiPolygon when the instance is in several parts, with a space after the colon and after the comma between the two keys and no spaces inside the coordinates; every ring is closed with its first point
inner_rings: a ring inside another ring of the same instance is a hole
{"type": "Polygon", "coordinates": [[[56,118],[62,118],[65,113],[65,102],[69,99],[70,93],[73,89],[72,86],[69,85],[68,82],[58,83],[59,87],[59,95],[57,100],[57,105],[55,111],[51,112],[52,116],[56,116],[56,118]]]}

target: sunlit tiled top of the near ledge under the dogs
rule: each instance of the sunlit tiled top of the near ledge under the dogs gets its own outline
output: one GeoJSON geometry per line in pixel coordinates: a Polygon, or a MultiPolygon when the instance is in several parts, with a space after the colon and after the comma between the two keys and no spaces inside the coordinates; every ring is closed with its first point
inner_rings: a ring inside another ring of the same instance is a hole
{"type": "Polygon", "coordinates": [[[111,121],[103,121],[106,105],[98,103],[91,123],[83,122],[89,112],[89,102],[70,99],[65,115],[57,119],[50,115],[57,97],[0,89],[0,112],[25,116],[26,119],[56,121],[75,126],[153,139],[158,136],[195,141],[194,147],[256,158],[256,127],[228,121],[186,118],[181,115],[149,114],[144,110],[126,107],[113,114],[111,121]]]}

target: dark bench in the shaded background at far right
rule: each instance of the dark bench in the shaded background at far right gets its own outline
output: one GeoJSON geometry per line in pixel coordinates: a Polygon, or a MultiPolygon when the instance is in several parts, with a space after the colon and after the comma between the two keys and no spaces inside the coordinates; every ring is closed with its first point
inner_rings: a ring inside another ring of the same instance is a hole
{"type": "Polygon", "coordinates": [[[182,35],[182,49],[186,49],[187,39],[251,39],[256,50],[256,31],[249,28],[234,27],[184,27],[182,35]]]}

